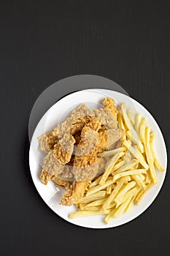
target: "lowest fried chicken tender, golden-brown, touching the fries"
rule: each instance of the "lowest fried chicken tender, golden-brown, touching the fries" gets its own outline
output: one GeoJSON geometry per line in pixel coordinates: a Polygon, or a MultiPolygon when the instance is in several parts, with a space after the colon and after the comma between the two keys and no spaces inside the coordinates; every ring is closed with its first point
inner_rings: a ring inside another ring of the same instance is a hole
{"type": "Polygon", "coordinates": [[[71,187],[66,191],[66,193],[61,198],[61,205],[72,206],[76,203],[85,193],[85,189],[88,187],[91,181],[74,181],[71,187]]]}

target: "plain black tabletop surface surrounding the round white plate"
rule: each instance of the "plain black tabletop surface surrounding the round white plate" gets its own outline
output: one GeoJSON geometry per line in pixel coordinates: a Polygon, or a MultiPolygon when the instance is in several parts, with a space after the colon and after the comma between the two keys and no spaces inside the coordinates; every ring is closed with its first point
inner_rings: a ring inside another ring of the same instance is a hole
{"type": "Polygon", "coordinates": [[[169,172],[152,206],[120,227],[71,225],[28,166],[28,118],[61,78],[101,75],[146,106],[169,149],[170,1],[0,1],[1,255],[169,255],[169,172]]]}

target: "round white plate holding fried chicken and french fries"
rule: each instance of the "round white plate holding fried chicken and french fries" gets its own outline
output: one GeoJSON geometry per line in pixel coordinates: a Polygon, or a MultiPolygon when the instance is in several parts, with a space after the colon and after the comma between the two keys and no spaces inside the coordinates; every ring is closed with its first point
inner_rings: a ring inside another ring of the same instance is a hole
{"type": "Polygon", "coordinates": [[[66,221],[71,222],[72,224],[79,225],[82,227],[91,227],[91,228],[108,228],[116,227],[123,225],[127,222],[130,222],[132,219],[138,217],[142,212],[144,212],[150,204],[155,200],[155,197],[160,191],[163,180],[166,176],[166,165],[167,165],[167,154],[166,146],[163,140],[163,135],[161,130],[158,127],[155,119],[150,115],[150,113],[136,100],[131,99],[130,97],[120,94],[116,91],[105,90],[105,89],[88,89],[84,91],[77,91],[73,94],[69,94],[63,99],[60,99],[58,102],[50,108],[47,113],[42,117],[37,125],[33,138],[31,140],[31,147],[29,152],[29,163],[31,176],[33,178],[36,189],[41,195],[42,199],[47,203],[55,214],[58,214],[66,221]],[[43,185],[40,181],[41,173],[41,164],[42,159],[45,157],[45,154],[39,151],[39,143],[37,138],[39,135],[52,130],[58,121],[63,121],[64,118],[70,113],[74,108],[80,105],[82,102],[85,102],[89,108],[98,108],[98,102],[101,102],[104,97],[112,97],[115,99],[117,104],[125,102],[127,108],[135,108],[136,113],[142,113],[147,119],[147,125],[151,127],[152,131],[155,132],[155,153],[158,156],[158,159],[161,162],[161,165],[165,168],[164,172],[156,171],[158,176],[158,184],[156,184],[147,195],[144,196],[142,203],[139,206],[134,206],[128,214],[123,214],[118,219],[112,219],[108,225],[104,223],[104,216],[91,216],[91,217],[79,217],[77,219],[69,219],[69,214],[76,210],[75,206],[61,206],[60,200],[63,195],[63,189],[58,189],[53,184],[53,181],[50,181],[47,186],[43,185]],[[40,164],[40,165],[39,165],[40,164]]]}

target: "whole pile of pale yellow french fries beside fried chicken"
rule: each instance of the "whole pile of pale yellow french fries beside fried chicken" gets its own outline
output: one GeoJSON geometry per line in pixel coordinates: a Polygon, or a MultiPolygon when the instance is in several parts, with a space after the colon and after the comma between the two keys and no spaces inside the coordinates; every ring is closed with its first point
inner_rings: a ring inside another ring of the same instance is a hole
{"type": "Polygon", "coordinates": [[[77,202],[78,211],[69,215],[76,217],[104,214],[104,221],[120,217],[139,205],[142,197],[158,182],[155,168],[164,170],[155,156],[155,132],[146,126],[142,115],[120,106],[117,121],[123,130],[121,147],[105,151],[105,171],[88,187],[85,195],[77,202]]]}

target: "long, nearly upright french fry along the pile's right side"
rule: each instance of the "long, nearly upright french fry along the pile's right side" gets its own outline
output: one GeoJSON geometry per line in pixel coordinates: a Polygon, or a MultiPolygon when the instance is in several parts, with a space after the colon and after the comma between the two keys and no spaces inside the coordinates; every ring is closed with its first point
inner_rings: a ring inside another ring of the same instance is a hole
{"type": "Polygon", "coordinates": [[[145,151],[148,165],[150,166],[150,176],[152,178],[153,183],[158,182],[158,178],[155,173],[155,167],[153,165],[152,152],[150,150],[150,127],[145,128],[145,151]]]}

